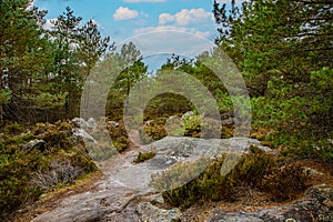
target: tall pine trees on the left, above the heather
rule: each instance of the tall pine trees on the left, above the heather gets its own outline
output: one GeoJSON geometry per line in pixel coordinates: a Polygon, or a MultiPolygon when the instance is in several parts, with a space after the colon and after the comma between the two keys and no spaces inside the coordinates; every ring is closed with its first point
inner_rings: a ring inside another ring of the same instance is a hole
{"type": "Polygon", "coordinates": [[[84,78],[109,50],[110,38],[102,38],[91,20],[81,24],[70,8],[50,30],[43,29],[46,14],[29,0],[1,1],[1,121],[78,115],[84,78]]]}

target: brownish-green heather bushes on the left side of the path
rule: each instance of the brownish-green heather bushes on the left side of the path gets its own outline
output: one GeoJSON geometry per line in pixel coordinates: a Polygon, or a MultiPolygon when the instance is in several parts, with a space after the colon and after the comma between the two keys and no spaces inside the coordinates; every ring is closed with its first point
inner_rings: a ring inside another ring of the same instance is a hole
{"type": "Polygon", "coordinates": [[[97,170],[84,145],[73,144],[70,131],[71,125],[60,121],[39,123],[31,130],[17,123],[4,128],[0,134],[1,220],[54,186],[71,184],[97,170]],[[33,139],[44,140],[46,149],[27,148],[33,139]]]}

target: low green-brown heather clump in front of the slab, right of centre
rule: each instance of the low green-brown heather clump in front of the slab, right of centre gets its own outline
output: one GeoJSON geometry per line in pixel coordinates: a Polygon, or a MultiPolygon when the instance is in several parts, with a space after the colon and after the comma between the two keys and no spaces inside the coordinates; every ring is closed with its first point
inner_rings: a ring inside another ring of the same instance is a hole
{"type": "Polygon", "coordinates": [[[164,200],[173,206],[188,208],[199,201],[232,201],[236,186],[248,185],[269,193],[273,200],[294,199],[306,189],[307,178],[299,164],[280,167],[276,159],[252,148],[226,175],[221,174],[225,157],[181,163],[153,178],[157,189],[165,190],[164,200]],[[193,176],[198,175],[196,178],[193,176]],[[186,180],[186,178],[192,179],[186,180]]]}

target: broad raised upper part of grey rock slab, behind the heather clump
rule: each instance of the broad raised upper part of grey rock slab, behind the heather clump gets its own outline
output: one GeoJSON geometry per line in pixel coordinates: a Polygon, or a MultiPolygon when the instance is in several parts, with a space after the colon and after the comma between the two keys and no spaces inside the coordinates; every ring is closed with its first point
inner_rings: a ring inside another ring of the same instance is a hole
{"type": "MultiPolygon", "coordinates": [[[[147,190],[152,176],[157,176],[162,171],[180,162],[195,162],[202,158],[213,159],[221,157],[223,153],[241,155],[249,152],[248,148],[255,142],[256,140],[246,138],[204,140],[185,137],[167,137],[152,144],[144,145],[134,152],[129,152],[125,157],[125,162],[133,162],[139,152],[150,152],[152,148],[155,149],[155,157],[153,159],[124,168],[120,173],[112,176],[128,188],[147,190]]],[[[103,171],[103,169],[101,170],[103,171]]],[[[192,178],[189,178],[189,180],[194,179],[202,171],[196,170],[191,174],[192,178]]],[[[175,182],[176,184],[170,185],[181,185],[189,181],[175,182]]]]}

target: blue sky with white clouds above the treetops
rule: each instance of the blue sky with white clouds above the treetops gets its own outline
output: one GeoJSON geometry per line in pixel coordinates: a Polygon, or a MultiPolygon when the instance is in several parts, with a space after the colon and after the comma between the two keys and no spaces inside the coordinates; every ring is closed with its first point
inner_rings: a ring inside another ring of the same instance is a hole
{"type": "Polygon", "coordinates": [[[118,48],[133,41],[151,67],[157,58],[172,53],[194,58],[210,51],[218,36],[213,0],[34,0],[33,4],[48,10],[49,21],[69,6],[83,22],[97,22],[118,48]]]}

